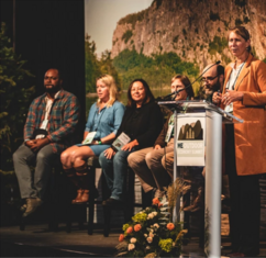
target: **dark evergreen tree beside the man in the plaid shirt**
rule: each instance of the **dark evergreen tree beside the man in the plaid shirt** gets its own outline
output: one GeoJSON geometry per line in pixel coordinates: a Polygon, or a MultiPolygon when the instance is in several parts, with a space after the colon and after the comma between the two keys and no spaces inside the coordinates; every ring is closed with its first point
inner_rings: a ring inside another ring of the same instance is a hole
{"type": "Polygon", "coordinates": [[[13,171],[12,154],[22,143],[25,123],[34,87],[27,80],[33,75],[23,68],[25,60],[15,55],[11,41],[5,35],[5,24],[0,32],[0,144],[1,172],[13,171]]]}

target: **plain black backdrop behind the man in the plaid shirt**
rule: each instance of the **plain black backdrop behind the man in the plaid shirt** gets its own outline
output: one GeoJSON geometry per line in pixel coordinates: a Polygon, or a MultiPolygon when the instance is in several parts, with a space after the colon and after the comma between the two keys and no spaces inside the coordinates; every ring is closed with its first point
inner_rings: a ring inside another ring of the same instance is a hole
{"type": "Polygon", "coordinates": [[[12,40],[13,3],[15,53],[27,60],[25,66],[35,76],[35,96],[44,92],[44,72],[51,67],[58,67],[63,72],[64,89],[76,94],[81,104],[81,132],[85,122],[84,0],[1,1],[1,21],[7,23],[8,35],[12,40]]]}

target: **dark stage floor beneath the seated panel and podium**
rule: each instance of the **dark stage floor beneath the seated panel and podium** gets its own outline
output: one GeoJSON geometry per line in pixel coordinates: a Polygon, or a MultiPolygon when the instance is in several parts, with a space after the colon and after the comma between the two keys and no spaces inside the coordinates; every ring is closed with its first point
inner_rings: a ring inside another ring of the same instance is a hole
{"type": "MultiPolygon", "coordinates": [[[[112,229],[109,237],[102,235],[101,228],[96,228],[93,235],[74,225],[71,233],[66,233],[64,225],[58,232],[48,232],[47,225],[29,225],[24,232],[19,226],[1,227],[1,258],[108,258],[115,254],[115,245],[121,229],[112,229]]],[[[222,237],[222,254],[230,253],[228,237],[222,237]]],[[[199,238],[192,237],[182,248],[180,258],[202,258],[203,250],[199,248],[199,238]]],[[[266,258],[266,242],[261,243],[259,258],[266,258]]]]}

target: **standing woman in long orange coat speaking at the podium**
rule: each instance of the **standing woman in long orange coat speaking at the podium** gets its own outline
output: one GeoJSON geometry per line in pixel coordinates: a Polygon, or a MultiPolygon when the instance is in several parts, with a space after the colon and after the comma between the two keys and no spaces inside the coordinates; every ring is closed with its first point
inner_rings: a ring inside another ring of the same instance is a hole
{"type": "Polygon", "coordinates": [[[259,177],[266,172],[266,64],[251,54],[251,37],[244,26],[229,32],[229,48],[235,61],[225,68],[223,94],[213,102],[243,119],[225,126],[225,170],[229,175],[231,218],[230,257],[259,254],[259,177]]]}

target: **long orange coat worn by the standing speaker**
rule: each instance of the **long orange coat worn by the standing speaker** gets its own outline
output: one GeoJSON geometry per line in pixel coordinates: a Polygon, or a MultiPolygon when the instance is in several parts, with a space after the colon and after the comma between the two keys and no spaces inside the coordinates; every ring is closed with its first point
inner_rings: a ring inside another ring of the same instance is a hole
{"type": "MultiPolygon", "coordinates": [[[[225,86],[232,67],[225,68],[225,86]]],[[[233,114],[244,120],[234,124],[235,162],[239,176],[266,172],[266,64],[251,54],[236,80],[236,91],[244,91],[234,102],[233,114]]]]}

